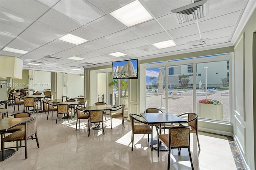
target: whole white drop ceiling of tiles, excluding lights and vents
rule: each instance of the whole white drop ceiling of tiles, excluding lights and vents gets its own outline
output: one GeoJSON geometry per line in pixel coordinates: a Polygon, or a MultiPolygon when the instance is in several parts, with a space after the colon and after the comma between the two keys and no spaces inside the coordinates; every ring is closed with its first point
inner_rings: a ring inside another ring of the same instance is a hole
{"type": "Polygon", "coordinates": [[[256,4],[254,0],[208,0],[204,18],[182,24],[171,10],[196,0],[139,0],[152,19],[130,27],[110,15],[133,1],[1,0],[0,55],[22,59],[24,69],[84,73],[83,68],[108,65],[112,61],[231,46],[256,4]],[[58,40],[66,34],[88,42],[75,45],[58,40]],[[207,43],[203,45],[188,43],[205,39],[207,43]],[[173,40],[176,46],[158,49],[153,45],[168,40],[173,40]],[[4,47],[28,53],[3,51],[4,47]],[[109,55],[115,52],[127,55],[109,55]],[[83,59],[68,59],[72,56],[83,59]],[[33,61],[40,65],[28,65],[33,61]]]}

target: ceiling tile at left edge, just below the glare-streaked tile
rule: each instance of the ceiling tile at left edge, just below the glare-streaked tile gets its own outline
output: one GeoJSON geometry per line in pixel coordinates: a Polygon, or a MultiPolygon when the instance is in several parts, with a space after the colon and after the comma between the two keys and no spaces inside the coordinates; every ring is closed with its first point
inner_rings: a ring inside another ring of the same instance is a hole
{"type": "Polygon", "coordinates": [[[22,32],[22,29],[9,26],[4,23],[0,24],[0,39],[6,42],[10,42],[14,38],[16,38],[20,33],[22,32]]]}

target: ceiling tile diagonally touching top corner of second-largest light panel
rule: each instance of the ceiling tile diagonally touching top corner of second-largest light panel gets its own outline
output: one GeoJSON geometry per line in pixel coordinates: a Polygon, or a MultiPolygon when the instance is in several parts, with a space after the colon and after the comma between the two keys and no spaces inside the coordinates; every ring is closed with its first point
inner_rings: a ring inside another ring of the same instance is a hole
{"type": "Polygon", "coordinates": [[[39,18],[38,22],[42,22],[43,24],[57,28],[64,32],[71,32],[82,26],[81,23],[52,9],[39,18]]]}

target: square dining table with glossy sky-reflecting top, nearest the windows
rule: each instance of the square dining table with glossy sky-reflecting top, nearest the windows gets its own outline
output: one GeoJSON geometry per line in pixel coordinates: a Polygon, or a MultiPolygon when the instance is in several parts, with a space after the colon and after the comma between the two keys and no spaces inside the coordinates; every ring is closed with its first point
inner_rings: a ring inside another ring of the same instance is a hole
{"type": "MultiPolygon", "coordinates": [[[[151,125],[152,134],[151,134],[151,150],[157,149],[157,139],[153,140],[153,125],[154,124],[166,124],[166,123],[186,123],[185,119],[178,117],[172,113],[140,113],[140,115],[151,125]]],[[[159,146],[159,150],[168,150],[168,147],[164,144],[159,146]]]]}

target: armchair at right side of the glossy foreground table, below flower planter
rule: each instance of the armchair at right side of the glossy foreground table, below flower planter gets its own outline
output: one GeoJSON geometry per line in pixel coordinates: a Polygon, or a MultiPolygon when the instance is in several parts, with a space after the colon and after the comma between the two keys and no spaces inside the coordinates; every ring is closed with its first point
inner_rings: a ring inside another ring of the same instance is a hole
{"type": "Polygon", "coordinates": [[[187,125],[190,126],[190,133],[196,133],[198,149],[201,150],[200,144],[199,144],[199,138],[198,138],[198,115],[192,112],[186,112],[178,115],[178,117],[184,117],[184,116],[188,118],[187,125]]]}

